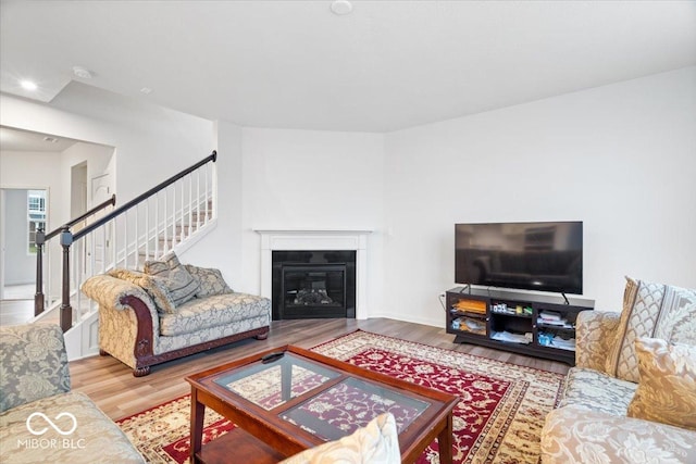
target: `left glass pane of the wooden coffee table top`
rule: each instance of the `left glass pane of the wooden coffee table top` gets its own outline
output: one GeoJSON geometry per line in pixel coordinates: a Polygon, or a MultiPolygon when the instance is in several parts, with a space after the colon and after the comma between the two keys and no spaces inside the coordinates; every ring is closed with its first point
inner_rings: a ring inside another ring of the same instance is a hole
{"type": "Polygon", "coordinates": [[[215,384],[270,411],[337,377],[340,373],[285,352],[271,362],[235,369],[215,384]]]}

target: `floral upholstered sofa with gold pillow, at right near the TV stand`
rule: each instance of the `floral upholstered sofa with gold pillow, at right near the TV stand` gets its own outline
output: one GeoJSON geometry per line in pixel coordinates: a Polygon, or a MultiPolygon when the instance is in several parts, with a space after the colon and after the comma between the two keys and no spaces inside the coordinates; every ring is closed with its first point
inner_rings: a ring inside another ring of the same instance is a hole
{"type": "Polygon", "coordinates": [[[696,290],[627,278],[623,311],[576,321],[542,462],[696,463],[696,290]]]}

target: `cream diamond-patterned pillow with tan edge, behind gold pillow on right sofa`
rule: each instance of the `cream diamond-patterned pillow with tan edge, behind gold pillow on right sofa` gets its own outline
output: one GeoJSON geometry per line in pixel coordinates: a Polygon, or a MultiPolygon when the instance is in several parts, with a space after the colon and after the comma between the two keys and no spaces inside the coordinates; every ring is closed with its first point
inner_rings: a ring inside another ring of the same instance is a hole
{"type": "Polygon", "coordinates": [[[626,277],[623,311],[606,372],[637,383],[635,340],[641,337],[696,344],[696,290],[626,277]]]}

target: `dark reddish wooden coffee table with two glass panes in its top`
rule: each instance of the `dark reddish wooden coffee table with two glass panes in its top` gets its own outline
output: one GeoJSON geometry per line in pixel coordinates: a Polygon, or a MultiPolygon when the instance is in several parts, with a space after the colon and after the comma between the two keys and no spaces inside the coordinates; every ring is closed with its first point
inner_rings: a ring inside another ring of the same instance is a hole
{"type": "Polygon", "coordinates": [[[298,347],[263,351],[186,381],[191,463],[276,463],[349,435],[386,411],[396,418],[402,462],[414,462],[436,438],[440,463],[452,461],[459,398],[298,347]],[[202,446],[207,406],[237,427],[202,446]]]}

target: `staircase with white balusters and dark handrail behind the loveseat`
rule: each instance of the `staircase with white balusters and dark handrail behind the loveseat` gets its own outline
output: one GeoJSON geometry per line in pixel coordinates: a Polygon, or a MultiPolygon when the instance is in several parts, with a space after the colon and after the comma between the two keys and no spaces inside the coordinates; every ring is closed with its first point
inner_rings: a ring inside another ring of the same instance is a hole
{"type": "Polygon", "coordinates": [[[85,280],[115,267],[142,271],[146,260],[181,254],[216,226],[216,155],[117,209],[114,197],[111,211],[104,202],[37,238],[35,321],[61,325],[69,360],[99,351],[98,308],[79,291],[85,280]]]}

